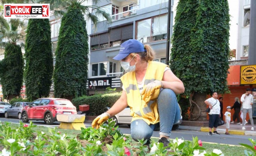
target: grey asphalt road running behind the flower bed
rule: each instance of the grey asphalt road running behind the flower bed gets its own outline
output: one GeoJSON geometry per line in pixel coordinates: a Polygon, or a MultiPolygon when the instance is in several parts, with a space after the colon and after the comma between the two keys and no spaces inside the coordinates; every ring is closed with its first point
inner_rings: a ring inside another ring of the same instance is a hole
{"type": "MultiPolygon", "coordinates": [[[[0,118],[2,122],[13,122],[20,123],[19,119],[15,118],[0,118]]],[[[59,125],[59,122],[54,122],[53,125],[46,125],[44,121],[33,121],[34,125],[39,126],[50,126],[55,127],[59,125]]],[[[84,123],[86,127],[91,126],[91,123],[84,123]]],[[[130,134],[130,128],[126,125],[120,125],[119,129],[123,134],[130,134]]],[[[153,132],[154,137],[159,137],[158,131],[153,132]]],[[[202,142],[211,142],[211,143],[219,143],[219,144],[230,144],[230,145],[239,145],[239,143],[251,144],[248,138],[256,139],[256,136],[248,136],[248,135],[208,135],[207,132],[198,132],[198,131],[189,131],[189,130],[176,130],[171,132],[170,139],[184,138],[185,140],[193,140],[192,136],[197,136],[198,139],[202,140],[202,142]]]]}

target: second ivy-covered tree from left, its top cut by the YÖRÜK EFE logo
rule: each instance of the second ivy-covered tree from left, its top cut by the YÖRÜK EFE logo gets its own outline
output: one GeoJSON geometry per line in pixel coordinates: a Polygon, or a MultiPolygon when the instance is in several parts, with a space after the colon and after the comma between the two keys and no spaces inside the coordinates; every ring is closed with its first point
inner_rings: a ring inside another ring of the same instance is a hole
{"type": "Polygon", "coordinates": [[[25,41],[24,72],[29,100],[48,97],[53,76],[53,53],[49,19],[29,19],[25,41]]]}

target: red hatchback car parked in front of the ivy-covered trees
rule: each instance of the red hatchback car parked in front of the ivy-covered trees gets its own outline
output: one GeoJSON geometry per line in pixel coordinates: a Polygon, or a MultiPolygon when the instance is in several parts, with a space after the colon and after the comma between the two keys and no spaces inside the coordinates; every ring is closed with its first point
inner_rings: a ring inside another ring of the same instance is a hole
{"type": "Polygon", "coordinates": [[[21,119],[22,122],[43,120],[51,125],[57,121],[57,114],[77,114],[77,108],[66,99],[40,98],[22,109],[21,119]]]}

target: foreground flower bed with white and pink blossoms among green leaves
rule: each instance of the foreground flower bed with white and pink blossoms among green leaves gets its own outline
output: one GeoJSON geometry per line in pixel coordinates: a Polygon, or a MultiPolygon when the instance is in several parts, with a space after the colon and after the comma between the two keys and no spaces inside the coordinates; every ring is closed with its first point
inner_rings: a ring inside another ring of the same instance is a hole
{"type": "MultiPolygon", "coordinates": [[[[203,143],[197,137],[193,141],[174,139],[169,147],[162,143],[152,141],[150,148],[145,146],[146,141],[139,143],[132,141],[130,136],[125,136],[113,127],[102,125],[98,130],[88,127],[82,128],[77,137],[69,137],[56,128],[48,128],[49,133],[34,131],[35,125],[30,122],[26,125],[20,122],[17,129],[11,128],[10,123],[0,122],[0,156],[223,156],[222,151],[213,149],[206,153],[203,143]]],[[[255,156],[255,140],[250,139],[253,146],[241,144],[249,148],[245,155],[255,156]]]]}

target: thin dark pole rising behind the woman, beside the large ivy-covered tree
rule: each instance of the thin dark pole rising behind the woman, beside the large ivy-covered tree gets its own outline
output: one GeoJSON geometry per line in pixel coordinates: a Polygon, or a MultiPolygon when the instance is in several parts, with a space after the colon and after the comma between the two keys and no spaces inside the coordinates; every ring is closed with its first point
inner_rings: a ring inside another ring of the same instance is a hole
{"type": "Polygon", "coordinates": [[[170,38],[173,33],[173,11],[172,11],[172,1],[168,2],[168,20],[167,20],[167,43],[166,43],[166,64],[169,65],[169,57],[170,57],[170,38]],[[171,15],[172,14],[172,15],[171,15]]]}

